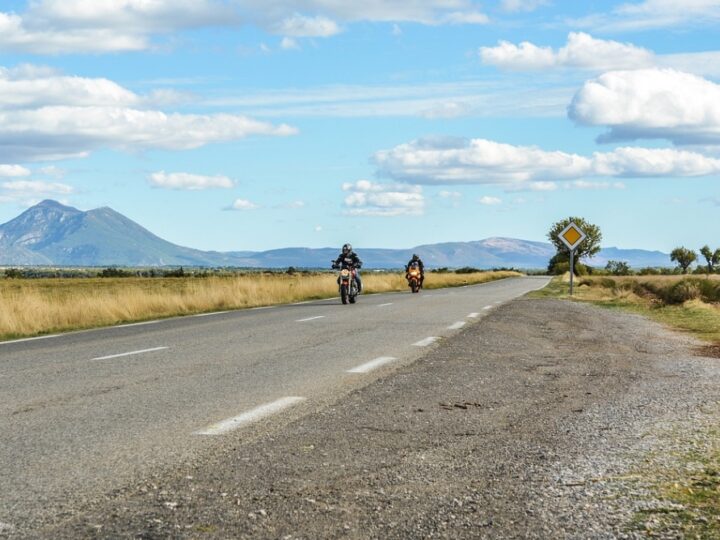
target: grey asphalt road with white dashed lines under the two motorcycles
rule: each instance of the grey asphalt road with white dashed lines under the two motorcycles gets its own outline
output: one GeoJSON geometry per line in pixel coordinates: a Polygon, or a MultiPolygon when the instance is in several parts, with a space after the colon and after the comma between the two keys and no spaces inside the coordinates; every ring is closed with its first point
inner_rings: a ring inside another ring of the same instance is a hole
{"type": "Polygon", "coordinates": [[[20,532],[61,518],[78,501],[192,460],[226,430],[318,410],[546,283],[514,278],[0,343],[0,525],[20,532]]]}

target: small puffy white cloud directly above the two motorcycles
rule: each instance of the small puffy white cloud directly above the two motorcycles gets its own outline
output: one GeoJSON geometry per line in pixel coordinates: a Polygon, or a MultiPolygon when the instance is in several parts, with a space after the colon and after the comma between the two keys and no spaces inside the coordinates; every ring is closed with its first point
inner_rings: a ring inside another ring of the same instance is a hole
{"type": "Polygon", "coordinates": [[[354,216],[422,215],[425,199],[422,188],[405,184],[379,184],[369,180],[345,183],[349,192],[344,204],[346,213],[354,216]]]}

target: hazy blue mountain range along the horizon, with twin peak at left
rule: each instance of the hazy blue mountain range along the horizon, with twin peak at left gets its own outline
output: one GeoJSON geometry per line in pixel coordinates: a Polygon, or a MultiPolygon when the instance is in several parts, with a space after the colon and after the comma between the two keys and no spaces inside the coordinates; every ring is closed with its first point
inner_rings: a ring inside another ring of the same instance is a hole
{"type": "MultiPolygon", "coordinates": [[[[408,249],[357,248],[366,268],[400,268],[417,253],[430,268],[545,268],[554,248],[547,242],[486,238],[408,249]]],[[[0,225],[0,264],[5,266],[205,266],[328,268],[339,248],[290,247],[270,251],[201,251],[152,234],[108,207],[83,212],[46,200],[0,225]]],[[[633,267],[667,266],[659,251],[603,249],[590,264],[608,260],[633,267]]]]}

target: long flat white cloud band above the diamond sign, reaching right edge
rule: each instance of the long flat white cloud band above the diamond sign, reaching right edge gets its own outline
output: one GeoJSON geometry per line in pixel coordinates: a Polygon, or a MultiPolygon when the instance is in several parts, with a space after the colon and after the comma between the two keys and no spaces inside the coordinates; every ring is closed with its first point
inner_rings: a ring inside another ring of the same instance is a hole
{"type": "Polygon", "coordinates": [[[624,147],[581,156],[486,139],[417,140],[377,152],[378,173],[410,184],[503,184],[544,191],[587,177],[692,177],[720,173],[720,159],[676,149],[624,147]]]}

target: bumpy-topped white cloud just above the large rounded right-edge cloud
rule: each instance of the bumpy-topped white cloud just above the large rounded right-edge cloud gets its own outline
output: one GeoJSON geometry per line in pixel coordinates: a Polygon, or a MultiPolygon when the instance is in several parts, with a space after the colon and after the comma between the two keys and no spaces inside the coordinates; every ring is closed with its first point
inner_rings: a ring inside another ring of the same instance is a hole
{"type": "Polygon", "coordinates": [[[649,67],[654,63],[654,55],[647,49],[595,39],[583,32],[570,32],[567,45],[557,51],[527,41],[520,45],[501,41],[497,47],[481,47],[480,57],[485,64],[511,70],[565,67],[602,71],[649,67]]]}

